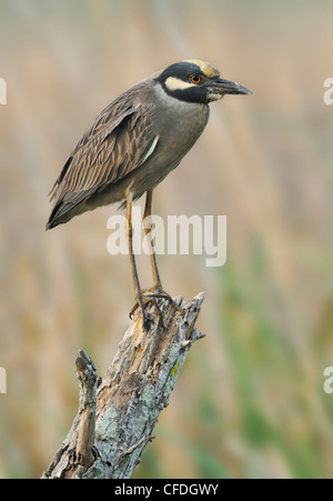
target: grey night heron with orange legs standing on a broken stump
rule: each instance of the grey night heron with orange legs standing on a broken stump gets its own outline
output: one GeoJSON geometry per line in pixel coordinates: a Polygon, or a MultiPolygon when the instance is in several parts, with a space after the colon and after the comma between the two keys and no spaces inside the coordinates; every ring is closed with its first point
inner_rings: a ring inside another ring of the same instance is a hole
{"type": "MultiPolygon", "coordinates": [[[[140,81],[107,106],[79,140],[50,191],[53,202],[47,230],[100,206],[120,202],[127,210],[127,237],[132,279],[142,325],[150,321],[151,301],[161,318],[158,298],[182,311],[163,288],[147,223],[154,188],[175,169],[202,134],[210,103],[225,94],[252,94],[199,59],[175,62],[140,81]],[[144,231],[150,246],[153,287],[142,290],[132,244],[132,203],[145,194],[144,231]]],[[[161,319],[162,321],[162,319],[161,319]]]]}

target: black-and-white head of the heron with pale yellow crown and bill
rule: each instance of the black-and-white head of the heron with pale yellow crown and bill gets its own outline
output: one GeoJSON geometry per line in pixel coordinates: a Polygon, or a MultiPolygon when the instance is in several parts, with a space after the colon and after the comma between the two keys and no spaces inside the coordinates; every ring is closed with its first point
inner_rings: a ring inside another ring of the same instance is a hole
{"type": "Polygon", "coordinates": [[[155,80],[164,91],[176,99],[208,104],[225,94],[252,94],[252,90],[224,80],[220,71],[196,59],[175,62],[165,68],[155,80]]]}

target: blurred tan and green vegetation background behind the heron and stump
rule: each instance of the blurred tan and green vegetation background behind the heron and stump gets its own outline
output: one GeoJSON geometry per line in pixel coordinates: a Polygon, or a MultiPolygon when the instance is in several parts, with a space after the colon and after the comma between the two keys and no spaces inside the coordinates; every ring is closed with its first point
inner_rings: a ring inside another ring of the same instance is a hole
{"type": "Polygon", "coordinates": [[[159,259],[171,294],[205,292],[206,338],[135,475],[332,477],[332,17],[329,0],[0,0],[1,478],[46,470],[77,412],[77,350],[103,373],[133,305],[128,257],[107,252],[117,208],[46,232],[47,194],[105,104],[189,58],[255,94],[211,106],[155,190],[163,218],[226,214],[228,260],[159,259]]]}

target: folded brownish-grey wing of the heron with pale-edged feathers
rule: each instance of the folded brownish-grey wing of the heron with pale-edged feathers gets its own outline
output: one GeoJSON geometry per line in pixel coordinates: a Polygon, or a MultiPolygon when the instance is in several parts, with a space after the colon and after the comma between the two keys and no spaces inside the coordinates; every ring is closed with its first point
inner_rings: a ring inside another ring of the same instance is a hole
{"type": "Polygon", "coordinates": [[[97,191],[140,167],[157,143],[151,103],[111,103],[73,149],[51,190],[54,201],[47,228],[97,191]]]}

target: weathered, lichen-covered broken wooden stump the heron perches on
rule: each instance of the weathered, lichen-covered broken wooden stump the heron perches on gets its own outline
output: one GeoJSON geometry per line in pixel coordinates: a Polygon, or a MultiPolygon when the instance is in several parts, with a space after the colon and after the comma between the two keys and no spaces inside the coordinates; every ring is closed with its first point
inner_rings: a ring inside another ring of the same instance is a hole
{"type": "Polygon", "coordinates": [[[194,329],[203,293],[185,304],[182,298],[174,301],[182,305],[183,317],[169,301],[158,300],[163,325],[154,305],[145,307],[149,333],[135,311],[99,387],[93,362],[79,352],[79,412],[42,478],[132,477],[190,348],[204,335],[194,329]]]}

